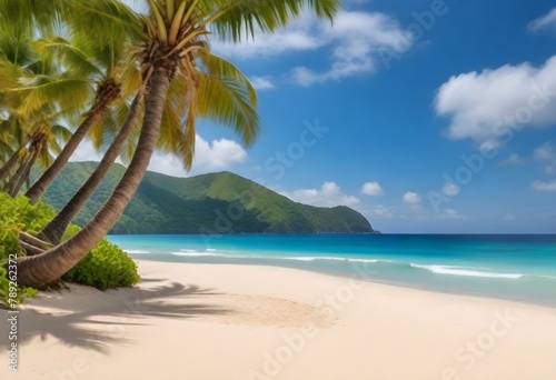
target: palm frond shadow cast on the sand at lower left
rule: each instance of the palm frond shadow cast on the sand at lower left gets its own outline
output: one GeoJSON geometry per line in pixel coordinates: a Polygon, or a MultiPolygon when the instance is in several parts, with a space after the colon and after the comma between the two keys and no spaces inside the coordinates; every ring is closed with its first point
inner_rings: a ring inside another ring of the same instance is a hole
{"type": "MultiPolygon", "coordinates": [[[[178,282],[149,289],[90,290],[90,293],[81,301],[80,294],[71,292],[64,292],[60,299],[42,299],[40,306],[56,308],[56,314],[32,307],[21,310],[18,316],[19,344],[24,346],[36,338],[44,341],[52,336],[70,347],[107,353],[112,344],[132,343],[127,327],[148,326],[150,318],[192,318],[230,312],[215,304],[195,302],[200,296],[207,300],[207,296],[217,294],[210,289],[178,282]]],[[[7,319],[2,319],[1,324],[7,323],[7,319]]],[[[0,340],[0,349],[9,344],[7,339],[0,340]]]]}

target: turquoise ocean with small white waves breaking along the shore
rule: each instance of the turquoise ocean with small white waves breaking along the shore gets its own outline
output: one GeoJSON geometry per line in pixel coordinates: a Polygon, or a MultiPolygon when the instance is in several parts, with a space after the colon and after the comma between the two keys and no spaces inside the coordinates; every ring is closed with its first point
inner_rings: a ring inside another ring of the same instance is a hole
{"type": "Polygon", "coordinates": [[[109,236],[139,260],[262,264],[556,307],[556,234],[109,236]]]}

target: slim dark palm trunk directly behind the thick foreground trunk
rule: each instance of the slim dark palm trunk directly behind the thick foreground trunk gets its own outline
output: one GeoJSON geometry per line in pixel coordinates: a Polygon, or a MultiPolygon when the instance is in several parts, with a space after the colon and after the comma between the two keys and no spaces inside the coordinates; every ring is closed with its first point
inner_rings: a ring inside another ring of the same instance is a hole
{"type": "Polygon", "coordinates": [[[76,218],[78,212],[82,209],[85,203],[89,200],[92,192],[102,182],[102,179],[108,173],[108,170],[113,164],[113,161],[118,158],[118,154],[126,143],[127,139],[131,134],[133,127],[139,117],[139,104],[142,100],[141,94],[137,94],[131,103],[128,116],[120,132],[112,141],[110,148],[102,157],[99,166],[92,174],[89,177],[87,182],[79,189],[79,191],[71,198],[71,200],[63,207],[63,209],[52,219],[40,232],[39,238],[47,240],[53,244],[58,244],[63,236],[63,232],[68,228],[69,223],[76,218]]]}

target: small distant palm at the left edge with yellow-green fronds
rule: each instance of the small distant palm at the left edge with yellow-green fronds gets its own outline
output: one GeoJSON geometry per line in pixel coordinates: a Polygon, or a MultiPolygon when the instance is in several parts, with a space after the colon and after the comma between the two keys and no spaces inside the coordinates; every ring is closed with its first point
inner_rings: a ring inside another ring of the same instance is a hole
{"type": "MultiPolygon", "coordinates": [[[[57,121],[61,116],[69,114],[58,111],[54,102],[36,107],[31,112],[21,112],[23,97],[29,94],[27,89],[32,86],[46,89],[63,87],[71,81],[79,82],[79,79],[60,72],[52,60],[39,57],[24,29],[6,30],[4,27],[0,27],[0,110],[4,116],[0,123],[0,139],[4,141],[3,147],[14,148],[10,149],[10,158],[0,168],[0,180],[7,179],[20,163],[7,186],[9,192],[16,194],[29,179],[34,162],[40,158],[40,162],[48,166],[49,151],[60,151],[58,139],[67,140],[71,134],[57,121]]],[[[72,96],[71,91],[67,93],[72,96]]],[[[67,106],[72,104],[67,102],[67,106]]]]}

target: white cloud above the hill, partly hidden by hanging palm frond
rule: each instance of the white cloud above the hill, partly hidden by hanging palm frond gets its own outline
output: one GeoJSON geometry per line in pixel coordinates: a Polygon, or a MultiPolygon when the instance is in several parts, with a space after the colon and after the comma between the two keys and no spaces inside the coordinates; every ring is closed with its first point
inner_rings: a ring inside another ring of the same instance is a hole
{"type": "Polygon", "coordinates": [[[173,177],[186,177],[188,174],[228,169],[235,163],[244,162],[246,159],[247,152],[236,141],[220,139],[212,140],[209,143],[197,134],[195,158],[189,173],[186,172],[181,161],[176,157],[158,152],[152,154],[149,170],[173,177]]]}

